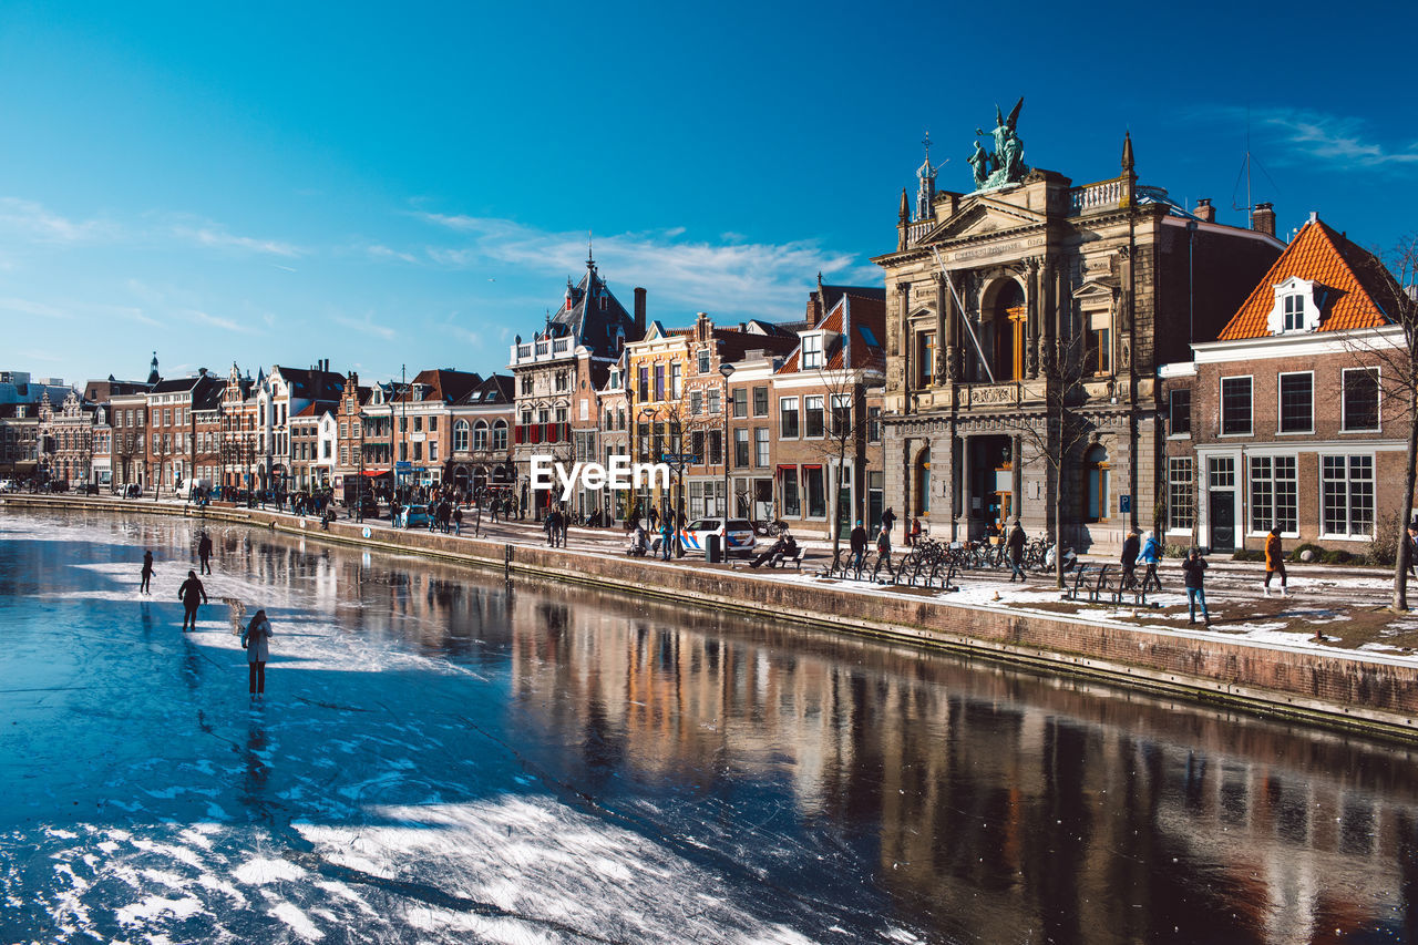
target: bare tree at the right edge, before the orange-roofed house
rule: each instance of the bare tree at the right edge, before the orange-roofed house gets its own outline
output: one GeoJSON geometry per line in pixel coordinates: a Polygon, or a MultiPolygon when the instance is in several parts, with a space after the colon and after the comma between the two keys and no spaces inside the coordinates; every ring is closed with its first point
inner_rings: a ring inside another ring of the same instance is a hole
{"type": "MultiPolygon", "coordinates": [[[[1401,331],[1401,338],[1392,342],[1373,333],[1353,336],[1351,352],[1364,366],[1378,368],[1378,383],[1384,403],[1394,416],[1407,423],[1408,451],[1404,463],[1404,485],[1400,495],[1400,534],[1405,542],[1402,526],[1408,524],[1414,507],[1414,487],[1418,480],[1418,233],[1400,240],[1388,253],[1385,267],[1381,253],[1367,254],[1358,261],[1371,271],[1366,284],[1375,294],[1374,301],[1388,316],[1390,324],[1401,331]]],[[[1377,522],[1375,522],[1377,526],[1377,522]]],[[[1392,609],[1408,610],[1408,569],[1400,545],[1394,560],[1392,609]]]]}

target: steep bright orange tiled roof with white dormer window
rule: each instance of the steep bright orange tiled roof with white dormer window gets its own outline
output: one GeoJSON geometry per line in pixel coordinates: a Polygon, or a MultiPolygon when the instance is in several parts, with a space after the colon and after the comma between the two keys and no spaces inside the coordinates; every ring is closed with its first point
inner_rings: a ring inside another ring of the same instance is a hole
{"type": "Polygon", "coordinates": [[[1324,221],[1312,219],[1221,329],[1218,339],[1268,338],[1275,287],[1289,278],[1316,282],[1320,306],[1316,331],[1320,332],[1392,325],[1394,306],[1405,304],[1398,281],[1378,257],[1324,221]]]}

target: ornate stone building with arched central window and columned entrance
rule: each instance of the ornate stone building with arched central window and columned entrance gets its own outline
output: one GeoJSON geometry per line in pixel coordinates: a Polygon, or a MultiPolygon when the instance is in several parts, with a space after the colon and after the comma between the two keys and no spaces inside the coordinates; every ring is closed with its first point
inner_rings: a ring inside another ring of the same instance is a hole
{"type": "MultiPolygon", "coordinates": [[[[1011,119],[1012,121],[1012,119],[1011,119]]],[[[1012,129],[1011,132],[1012,133],[1012,129]]],[[[1157,366],[1211,338],[1283,250],[1275,216],[1255,230],[1194,213],[1122,173],[1075,187],[1018,167],[1010,183],[936,192],[929,159],[915,209],[902,192],[888,289],[886,504],[937,538],[981,538],[1018,514],[1081,551],[1151,524],[1161,451],[1157,366]],[[1058,403],[1086,440],[1062,484],[1058,403]]]]}

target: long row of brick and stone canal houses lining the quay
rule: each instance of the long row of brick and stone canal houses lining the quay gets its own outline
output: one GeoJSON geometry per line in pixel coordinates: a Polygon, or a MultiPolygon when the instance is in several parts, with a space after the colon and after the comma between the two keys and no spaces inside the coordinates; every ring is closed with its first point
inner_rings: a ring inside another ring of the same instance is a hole
{"type": "Polygon", "coordinates": [[[588,258],[506,373],[162,379],[155,356],[146,383],[45,400],[37,460],[149,491],[447,485],[535,515],[560,494],[535,487],[532,457],[628,455],[668,464],[669,488],[583,490],[571,511],[727,511],[828,535],[892,508],[936,538],[1018,518],[1095,551],[1133,526],[1217,551],[1272,526],[1363,551],[1411,514],[1392,485],[1411,419],[1388,392],[1412,287],[1314,214],[1286,243],[1269,204],[1244,227],[1177,204],[1137,182],[1130,140],[1093,184],[1025,170],[954,193],[927,159],[873,260],[885,287],[818,275],[797,321],[651,319],[645,289],[627,309],[588,258]],[[1082,424],[1068,443],[1064,410],[1082,424]]]}

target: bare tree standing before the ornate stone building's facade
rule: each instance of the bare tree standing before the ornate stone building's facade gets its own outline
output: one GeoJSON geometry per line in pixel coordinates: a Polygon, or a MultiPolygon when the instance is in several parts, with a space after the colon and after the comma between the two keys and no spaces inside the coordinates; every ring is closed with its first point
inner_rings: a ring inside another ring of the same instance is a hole
{"type": "Polygon", "coordinates": [[[1093,421],[1082,410],[1088,402],[1083,379],[1092,373],[1088,370],[1082,335],[1059,341],[1052,356],[1042,358],[1041,362],[1039,377],[1045,382],[1042,414],[1020,413],[1007,426],[1027,447],[1021,450],[1021,464],[1042,463],[1046,467],[1054,502],[1054,579],[1058,587],[1064,587],[1064,482],[1081,447],[1095,430],[1093,421]],[[1025,460],[1029,454],[1032,457],[1025,460]]]}

